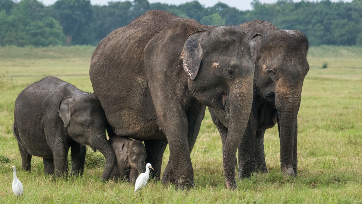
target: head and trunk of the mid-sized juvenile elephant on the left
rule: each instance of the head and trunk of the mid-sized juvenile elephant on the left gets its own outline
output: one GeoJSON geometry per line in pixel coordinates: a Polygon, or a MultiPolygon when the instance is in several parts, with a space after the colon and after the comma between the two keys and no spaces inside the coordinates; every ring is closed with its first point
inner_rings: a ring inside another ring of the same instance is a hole
{"type": "Polygon", "coordinates": [[[59,116],[68,135],[81,144],[98,149],[106,159],[102,179],[108,180],[115,164],[115,154],[107,140],[107,123],[102,106],[93,94],[84,93],[75,98],[67,96],[59,103],[59,116]]]}

